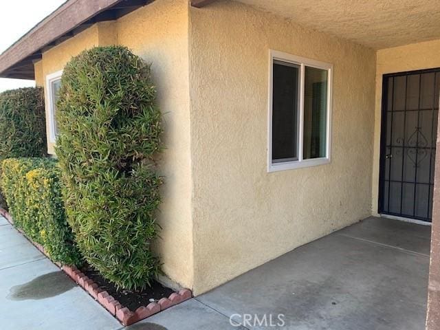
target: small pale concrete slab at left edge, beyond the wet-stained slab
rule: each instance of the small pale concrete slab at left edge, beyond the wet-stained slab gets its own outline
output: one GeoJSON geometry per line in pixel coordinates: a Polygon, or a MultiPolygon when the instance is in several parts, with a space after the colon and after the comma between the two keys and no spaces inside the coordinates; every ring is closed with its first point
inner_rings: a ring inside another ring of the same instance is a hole
{"type": "Polygon", "coordinates": [[[12,225],[0,226],[0,270],[44,258],[12,225]]]}

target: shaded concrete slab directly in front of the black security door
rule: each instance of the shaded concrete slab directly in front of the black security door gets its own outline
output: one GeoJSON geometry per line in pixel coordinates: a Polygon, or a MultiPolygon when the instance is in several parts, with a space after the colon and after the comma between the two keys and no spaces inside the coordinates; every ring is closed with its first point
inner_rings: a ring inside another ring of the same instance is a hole
{"type": "Polygon", "coordinates": [[[370,217],[340,230],[338,234],[391,245],[427,256],[430,253],[430,225],[415,225],[394,219],[370,217]]]}

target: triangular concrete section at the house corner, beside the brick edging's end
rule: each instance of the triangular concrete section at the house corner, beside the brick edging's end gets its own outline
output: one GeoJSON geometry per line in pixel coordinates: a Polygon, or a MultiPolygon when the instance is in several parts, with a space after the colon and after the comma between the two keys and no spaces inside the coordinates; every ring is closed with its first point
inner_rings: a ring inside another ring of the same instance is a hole
{"type": "Polygon", "coordinates": [[[195,299],[188,300],[155,316],[138,322],[126,330],[245,330],[232,326],[228,318],[195,299]]]}

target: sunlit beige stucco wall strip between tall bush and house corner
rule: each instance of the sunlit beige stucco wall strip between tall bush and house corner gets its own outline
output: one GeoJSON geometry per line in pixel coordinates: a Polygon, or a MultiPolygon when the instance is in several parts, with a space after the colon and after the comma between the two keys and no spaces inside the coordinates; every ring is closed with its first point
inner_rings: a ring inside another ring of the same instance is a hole
{"type": "Polygon", "coordinates": [[[192,287],[188,1],[155,1],[122,17],[117,33],[118,43],[152,63],[165,130],[158,250],[166,275],[192,287]]]}

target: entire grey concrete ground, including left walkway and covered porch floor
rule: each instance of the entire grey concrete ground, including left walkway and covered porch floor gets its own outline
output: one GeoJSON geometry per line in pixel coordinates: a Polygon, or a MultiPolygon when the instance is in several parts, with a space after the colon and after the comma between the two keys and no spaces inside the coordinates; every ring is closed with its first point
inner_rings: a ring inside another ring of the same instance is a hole
{"type": "MultiPolygon", "coordinates": [[[[366,219],[126,329],[424,329],[429,245],[366,219]]],[[[1,217],[0,305],[0,329],[122,329],[1,217]]]]}

